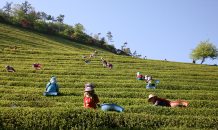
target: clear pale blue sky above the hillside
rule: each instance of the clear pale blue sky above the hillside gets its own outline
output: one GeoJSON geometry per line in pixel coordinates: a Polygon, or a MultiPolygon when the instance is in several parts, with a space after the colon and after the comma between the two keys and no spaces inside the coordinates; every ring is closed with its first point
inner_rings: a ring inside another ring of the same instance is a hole
{"type": "MultiPolygon", "coordinates": [[[[82,24],[87,34],[111,32],[117,49],[126,48],[148,59],[192,63],[191,49],[209,39],[218,48],[218,0],[27,0],[38,12],[64,23],[82,24]]],[[[22,4],[25,0],[0,0],[22,4]]],[[[12,5],[13,6],[13,5],[12,5]]],[[[196,61],[197,64],[201,60],[196,61]]],[[[203,64],[218,64],[206,59],[203,64]]]]}

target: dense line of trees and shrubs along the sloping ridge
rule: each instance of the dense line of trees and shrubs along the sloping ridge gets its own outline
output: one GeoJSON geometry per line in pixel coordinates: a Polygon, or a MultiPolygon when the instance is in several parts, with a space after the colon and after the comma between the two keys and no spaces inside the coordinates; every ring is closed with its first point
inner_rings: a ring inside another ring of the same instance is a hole
{"type": "Polygon", "coordinates": [[[96,45],[105,48],[116,54],[125,54],[134,57],[140,57],[136,55],[136,51],[131,53],[130,48],[126,47],[127,42],[124,43],[121,49],[116,49],[114,45],[107,43],[113,42],[113,35],[108,31],[106,37],[101,37],[101,33],[94,34],[94,37],[85,33],[85,28],[82,24],[77,23],[75,26],[64,24],[65,15],[60,14],[57,17],[46,14],[45,12],[37,12],[35,8],[25,1],[22,4],[14,4],[13,2],[6,2],[6,5],[0,9],[0,22],[6,22],[16,26],[22,26],[25,28],[33,29],[41,33],[57,35],[62,38],[70,39],[79,43],[96,45]]]}

